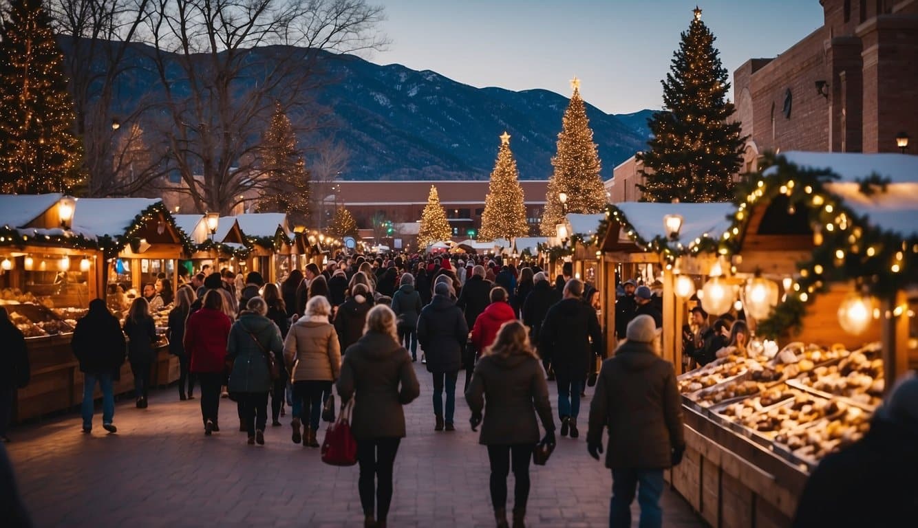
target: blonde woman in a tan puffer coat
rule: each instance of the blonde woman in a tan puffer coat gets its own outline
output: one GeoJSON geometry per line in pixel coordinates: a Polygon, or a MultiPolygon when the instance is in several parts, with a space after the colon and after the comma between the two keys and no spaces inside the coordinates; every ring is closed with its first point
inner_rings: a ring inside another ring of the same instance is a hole
{"type": "Polygon", "coordinates": [[[284,341],[284,359],[291,366],[294,398],[299,402],[291,426],[293,441],[303,446],[319,447],[316,433],[322,405],[331,394],[331,384],[341,373],[341,348],[338,333],[329,323],[331,305],[318,296],[306,303],[306,314],[290,327],[284,341]],[[306,424],[300,436],[300,424],[306,424]]]}

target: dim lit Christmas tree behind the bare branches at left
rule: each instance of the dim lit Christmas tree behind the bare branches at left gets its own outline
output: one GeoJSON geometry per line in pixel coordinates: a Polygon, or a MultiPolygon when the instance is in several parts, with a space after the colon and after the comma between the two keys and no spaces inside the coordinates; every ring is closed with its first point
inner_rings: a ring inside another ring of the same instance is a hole
{"type": "Polygon", "coordinates": [[[258,211],[286,213],[292,222],[305,223],[309,214],[309,172],[297,148],[293,124],[280,104],[274,104],[260,155],[264,182],[256,205],[258,211]]]}

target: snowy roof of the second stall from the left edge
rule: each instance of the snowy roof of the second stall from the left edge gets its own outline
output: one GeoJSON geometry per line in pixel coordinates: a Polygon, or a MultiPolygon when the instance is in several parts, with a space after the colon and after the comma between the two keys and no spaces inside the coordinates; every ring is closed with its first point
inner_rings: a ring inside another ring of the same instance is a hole
{"type": "Polygon", "coordinates": [[[162,203],[151,198],[81,198],[73,212],[73,231],[92,236],[123,236],[148,207],[162,203]]]}

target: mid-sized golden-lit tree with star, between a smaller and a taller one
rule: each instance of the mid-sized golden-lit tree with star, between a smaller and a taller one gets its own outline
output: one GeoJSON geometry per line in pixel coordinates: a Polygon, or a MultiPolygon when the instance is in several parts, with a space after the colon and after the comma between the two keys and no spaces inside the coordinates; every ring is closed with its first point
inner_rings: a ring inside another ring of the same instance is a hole
{"type": "Polygon", "coordinates": [[[498,160],[491,171],[491,182],[485,198],[485,212],[481,215],[480,240],[510,238],[529,235],[526,224],[526,205],[523,203],[520,172],[510,151],[510,136],[505,131],[500,137],[498,160]]]}

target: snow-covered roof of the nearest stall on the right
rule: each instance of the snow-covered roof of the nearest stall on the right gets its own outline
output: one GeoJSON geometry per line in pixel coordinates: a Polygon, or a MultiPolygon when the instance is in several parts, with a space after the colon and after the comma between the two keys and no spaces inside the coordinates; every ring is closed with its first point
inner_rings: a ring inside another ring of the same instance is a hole
{"type": "MultiPolygon", "coordinates": [[[[848,152],[787,152],[782,154],[800,169],[831,171],[839,178],[827,179],[825,190],[840,198],[851,212],[867,218],[868,225],[918,236],[918,156],[901,154],[858,154],[848,152]],[[860,181],[878,175],[889,181],[885,191],[864,194],[860,181]]],[[[764,174],[774,174],[778,166],[764,174]]]]}

